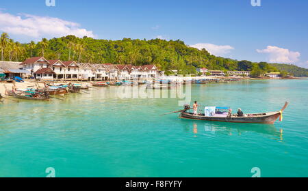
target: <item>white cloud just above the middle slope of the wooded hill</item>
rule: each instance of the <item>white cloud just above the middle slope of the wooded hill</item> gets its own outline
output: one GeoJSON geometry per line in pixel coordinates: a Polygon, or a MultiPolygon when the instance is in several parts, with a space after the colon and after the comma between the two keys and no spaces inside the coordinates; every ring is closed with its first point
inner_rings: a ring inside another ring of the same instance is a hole
{"type": "Polygon", "coordinates": [[[234,50],[232,46],[229,45],[216,45],[216,44],[209,44],[209,43],[198,43],[190,45],[190,47],[198,48],[199,50],[202,50],[205,48],[211,55],[222,57],[228,53],[230,53],[231,50],[234,50]]]}

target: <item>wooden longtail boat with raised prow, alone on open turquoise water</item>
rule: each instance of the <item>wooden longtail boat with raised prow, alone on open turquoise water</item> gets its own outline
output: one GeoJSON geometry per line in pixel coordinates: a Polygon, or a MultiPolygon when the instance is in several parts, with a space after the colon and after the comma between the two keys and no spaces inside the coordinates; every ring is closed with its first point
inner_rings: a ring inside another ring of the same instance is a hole
{"type": "Polygon", "coordinates": [[[289,103],[285,102],[285,105],[281,111],[274,111],[268,113],[251,113],[246,114],[244,117],[238,117],[238,115],[226,115],[222,116],[206,116],[205,113],[194,115],[190,113],[190,106],[185,105],[182,111],[179,111],[179,117],[183,119],[195,119],[195,120],[205,120],[205,121],[222,121],[231,123],[264,123],[264,124],[274,124],[275,121],[280,117],[280,121],[283,119],[283,111],[287,108],[289,103]]]}

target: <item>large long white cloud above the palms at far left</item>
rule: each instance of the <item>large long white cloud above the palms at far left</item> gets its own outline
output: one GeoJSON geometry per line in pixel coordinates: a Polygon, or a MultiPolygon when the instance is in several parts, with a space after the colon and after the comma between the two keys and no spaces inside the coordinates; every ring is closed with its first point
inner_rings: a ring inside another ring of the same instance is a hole
{"type": "Polygon", "coordinates": [[[9,34],[23,35],[39,40],[40,38],[55,38],[64,35],[76,35],[79,38],[94,38],[92,31],[80,28],[78,23],[49,16],[31,14],[8,14],[0,12],[0,30],[9,34]]]}

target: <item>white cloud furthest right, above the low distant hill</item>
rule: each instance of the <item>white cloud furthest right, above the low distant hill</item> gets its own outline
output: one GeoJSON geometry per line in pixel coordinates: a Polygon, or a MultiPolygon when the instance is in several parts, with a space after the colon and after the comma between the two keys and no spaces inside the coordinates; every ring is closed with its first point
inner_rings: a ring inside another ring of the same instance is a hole
{"type": "Polygon", "coordinates": [[[296,63],[299,60],[298,57],[300,57],[298,52],[277,46],[268,46],[264,50],[257,49],[257,52],[268,54],[268,61],[272,63],[296,63]]]}

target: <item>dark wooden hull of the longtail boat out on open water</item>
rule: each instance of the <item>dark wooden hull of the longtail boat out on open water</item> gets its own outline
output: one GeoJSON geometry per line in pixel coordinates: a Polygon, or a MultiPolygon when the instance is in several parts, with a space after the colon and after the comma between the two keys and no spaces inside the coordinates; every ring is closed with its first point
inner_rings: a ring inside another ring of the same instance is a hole
{"type": "Polygon", "coordinates": [[[275,121],[281,116],[281,112],[261,113],[261,116],[257,117],[206,117],[202,115],[193,115],[193,113],[181,112],[180,118],[205,120],[205,121],[221,121],[229,123],[264,123],[274,124],[275,121]]]}

